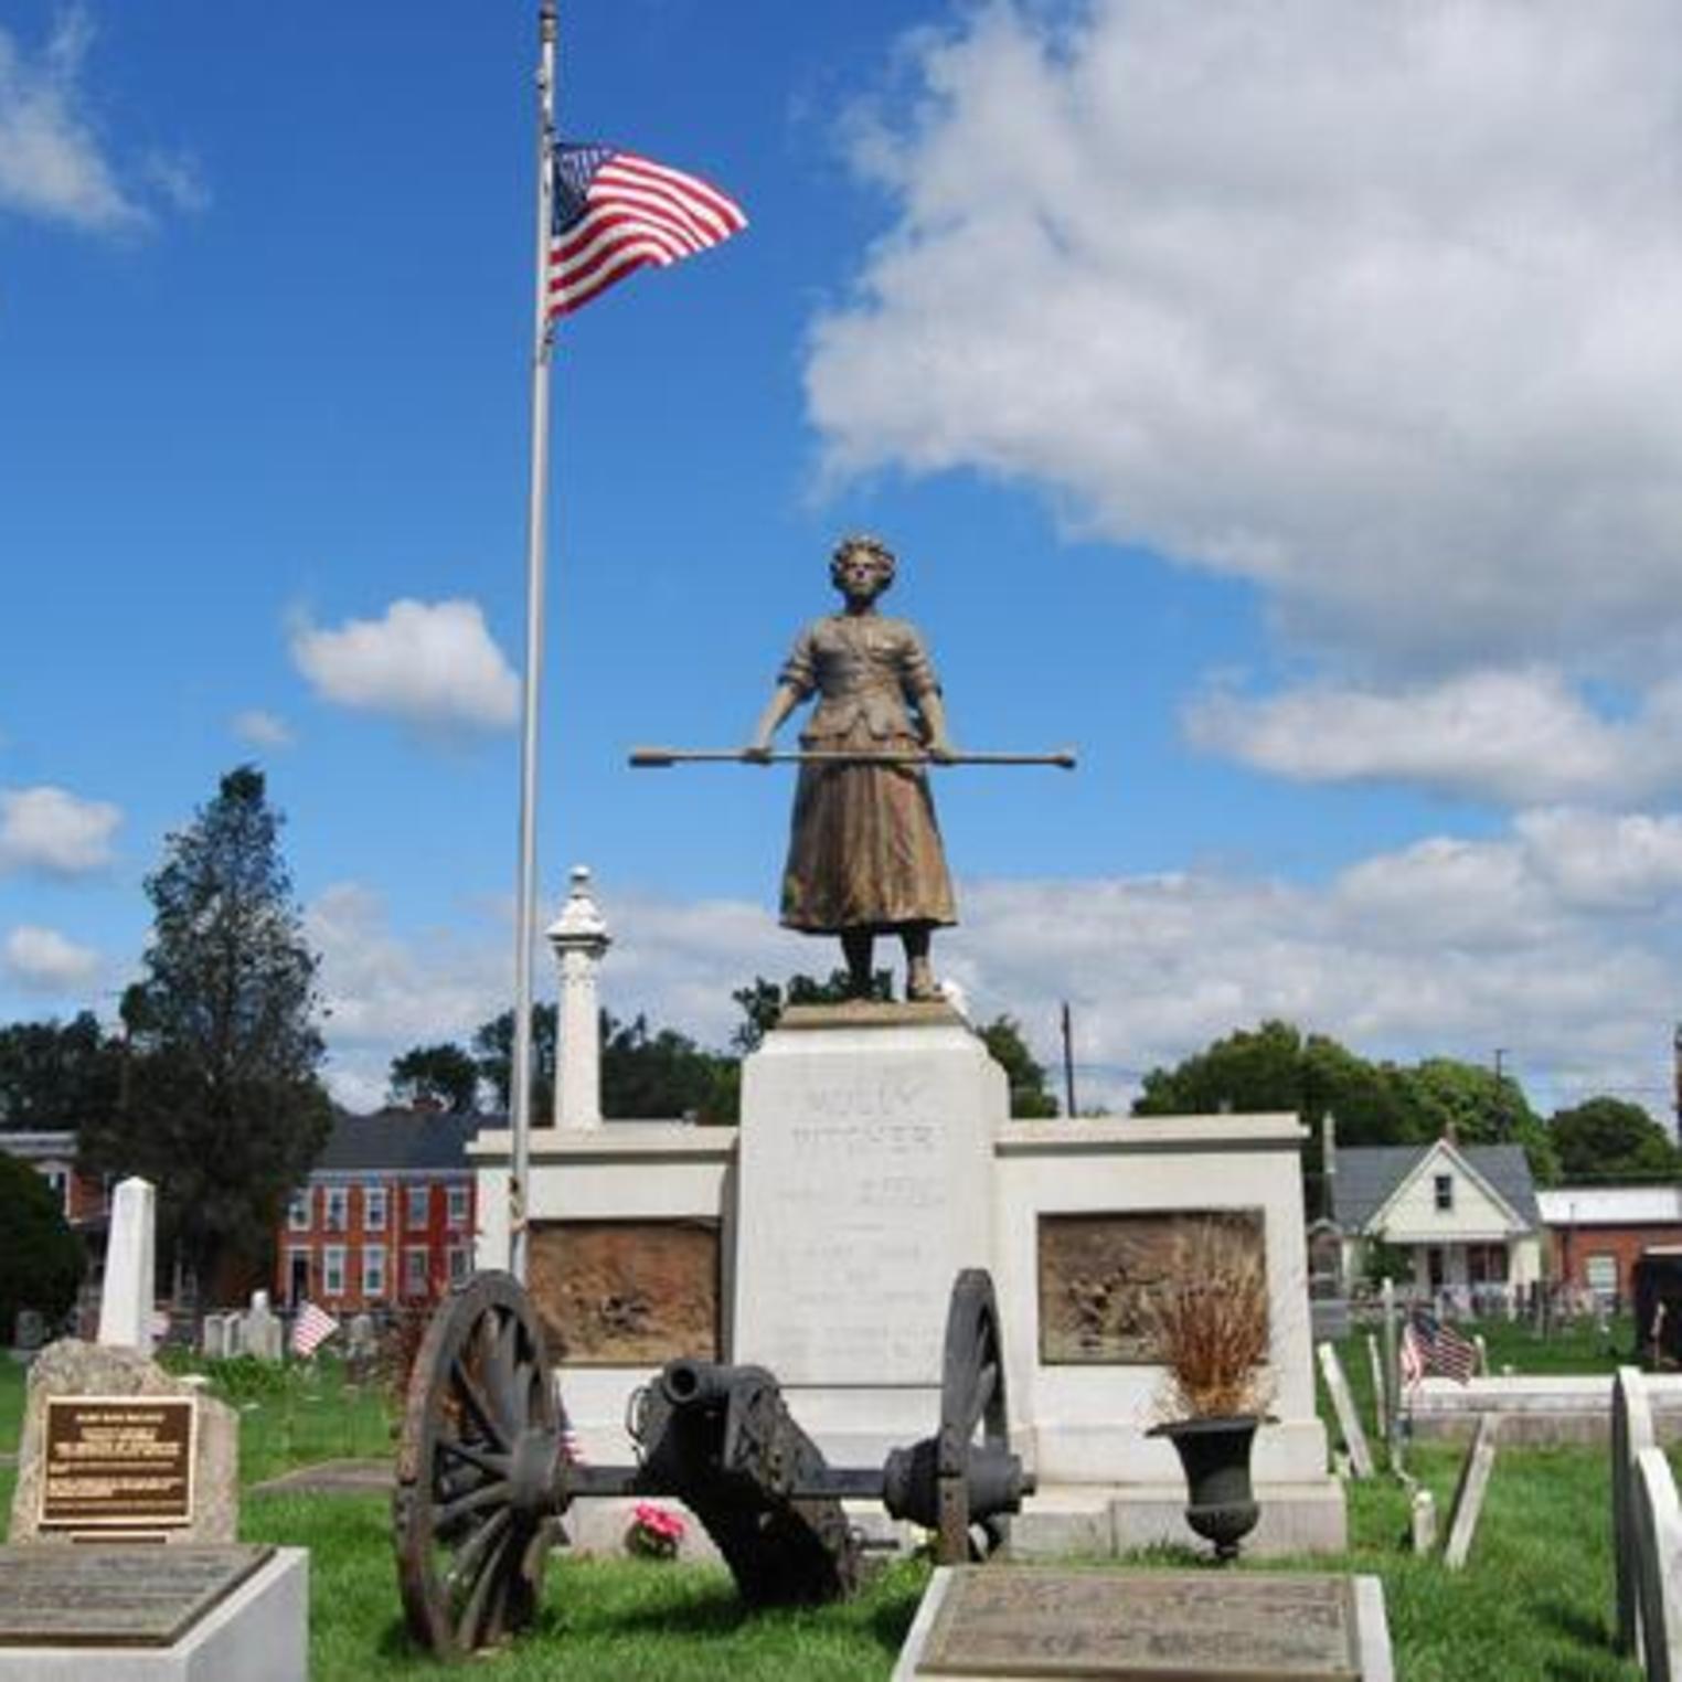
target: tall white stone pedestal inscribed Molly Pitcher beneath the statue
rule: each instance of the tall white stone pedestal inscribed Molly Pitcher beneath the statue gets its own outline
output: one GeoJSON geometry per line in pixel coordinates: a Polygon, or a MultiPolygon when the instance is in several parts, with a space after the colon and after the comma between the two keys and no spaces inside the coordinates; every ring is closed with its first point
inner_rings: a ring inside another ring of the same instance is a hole
{"type": "Polygon", "coordinates": [[[743,1065],[732,1352],[834,1463],[939,1423],[952,1282],[992,1265],[1008,1105],[944,1004],[796,1008],[743,1065]]]}

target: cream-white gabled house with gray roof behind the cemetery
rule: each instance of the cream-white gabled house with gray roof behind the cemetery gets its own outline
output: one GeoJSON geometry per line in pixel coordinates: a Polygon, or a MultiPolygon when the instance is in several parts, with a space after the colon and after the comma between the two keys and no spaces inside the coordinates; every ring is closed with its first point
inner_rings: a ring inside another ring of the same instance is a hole
{"type": "Polygon", "coordinates": [[[1541,1280],[1542,1219],[1522,1147],[1339,1145],[1329,1167],[1344,1278],[1366,1272],[1362,1246],[1379,1241],[1413,1253],[1399,1285],[1463,1307],[1510,1302],[1541,1280]]]}

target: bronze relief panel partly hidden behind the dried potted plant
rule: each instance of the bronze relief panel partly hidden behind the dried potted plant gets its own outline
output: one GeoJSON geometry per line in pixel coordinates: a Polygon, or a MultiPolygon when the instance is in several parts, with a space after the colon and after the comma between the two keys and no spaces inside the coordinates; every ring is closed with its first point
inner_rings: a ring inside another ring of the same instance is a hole
{"type": "Polygon", "coordinates": [[[1145,1305],[1181,1245],[1209,1223],[1267,1258],[1260,1209],[1149,1209],[1039,1216],[1039,1361],[1159,1366],[1145,1305]]]}

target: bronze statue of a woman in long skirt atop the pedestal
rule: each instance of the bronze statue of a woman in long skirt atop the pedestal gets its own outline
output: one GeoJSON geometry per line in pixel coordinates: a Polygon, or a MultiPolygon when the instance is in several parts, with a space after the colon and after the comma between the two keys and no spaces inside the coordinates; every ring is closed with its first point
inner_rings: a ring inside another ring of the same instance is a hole
{"type": "MultiPolygon", "coordinates": [[[[843,609],[796,637],[747,757],[764,760],[777,727],[814,693],[801,747],[844,755],[949,760],[940,686],[917,627],[876,612],[895,558],[871,537],[836,545],[829,579],[843,609]]],[[[928,965],[937,927],[957,922],[934,799],[922,765],[804,764],[794,794],[782,923],[839,935],[853,992],[871,991],[871,944],[905,944],[905,996],[939,999],[928,965]]]]}

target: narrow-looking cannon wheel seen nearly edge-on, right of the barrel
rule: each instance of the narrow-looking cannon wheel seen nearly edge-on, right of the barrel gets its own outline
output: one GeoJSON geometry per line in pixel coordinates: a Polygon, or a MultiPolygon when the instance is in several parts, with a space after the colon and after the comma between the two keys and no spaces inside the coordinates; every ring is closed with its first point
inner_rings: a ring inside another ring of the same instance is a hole
{"type": "Polygon", "coordinates": [[[940,1436],[935,1448],[935,1494],[940,1522],[935,1552],[944,1566],[967,1564],[1002,1539],[984,1526],[977,1541],[969,1522],[969,1458],[976,1443],[1008,1450],[1011,1420],[1004,1399],[1004,1342],[999,1304],[986,1268],[964,1268],[947,1309],[945,1357],[940,1379],[940,1436]]]}

